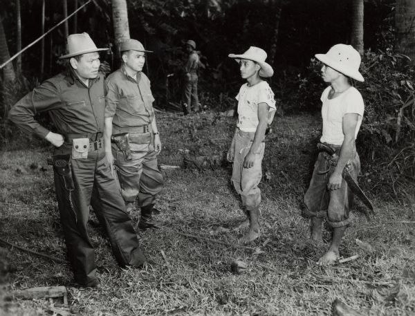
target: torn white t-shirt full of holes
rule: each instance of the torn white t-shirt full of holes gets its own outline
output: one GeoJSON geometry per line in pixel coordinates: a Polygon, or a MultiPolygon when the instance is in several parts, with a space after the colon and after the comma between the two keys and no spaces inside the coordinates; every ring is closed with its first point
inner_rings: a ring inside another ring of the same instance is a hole
{"type": "Polygon", "coordinates": [[[238,123],[237,127],[241,131],[255,132],[259,124],[258,104],[266,103],[270,106],[268,114],[268,124],[273,121],[276,110],[274,93],[266,81],[261,81],[254,86],[243,84],[236,96],[238,100],[238,123]]]}

